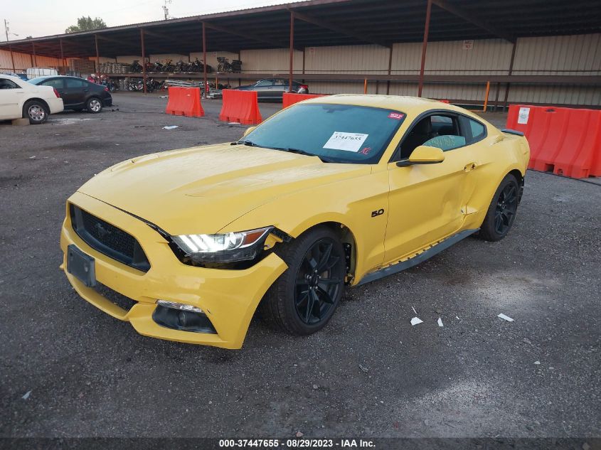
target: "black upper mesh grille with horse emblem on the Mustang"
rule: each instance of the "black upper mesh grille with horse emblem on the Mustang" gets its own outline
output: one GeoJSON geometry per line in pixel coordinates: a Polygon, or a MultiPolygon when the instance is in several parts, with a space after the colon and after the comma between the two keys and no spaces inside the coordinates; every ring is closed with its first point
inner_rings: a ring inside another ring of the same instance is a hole
{"type": "Polygon", "coordinates": [[[112,259],[148,272],[150,263],[135,237],[95,215],[69,205],[73,230],[87,245],[112,259]]]}

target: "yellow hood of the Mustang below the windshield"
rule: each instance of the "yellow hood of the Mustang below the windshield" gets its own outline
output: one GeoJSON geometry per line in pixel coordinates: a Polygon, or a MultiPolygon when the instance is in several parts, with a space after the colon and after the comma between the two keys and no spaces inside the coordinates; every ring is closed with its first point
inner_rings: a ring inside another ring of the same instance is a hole
{"type": "MultiPolygon", "coordinates": [[[[366,165],[323,163],[314,156],[218,144],[123,161],[79,191],[171,235],[214,233],[267,202],[370,171],[366,165]]],[[[277,225],[277,219],[265,218],[256,226],[277,225]]]]}

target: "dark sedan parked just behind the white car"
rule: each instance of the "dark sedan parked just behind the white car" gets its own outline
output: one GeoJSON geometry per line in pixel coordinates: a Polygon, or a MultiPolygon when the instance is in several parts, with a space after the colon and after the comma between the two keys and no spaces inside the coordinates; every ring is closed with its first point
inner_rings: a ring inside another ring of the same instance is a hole
{"type": "Polygon", "coordinates": [[[63,99],[65,109],[81,111],[85,108],[87,112],[97,114],[102,111],[102,107],[112,106],[112,96],[108,87],[83,78],[56,75],[33,78],[29,82],[33,85],[54,87],[63,99]]]}

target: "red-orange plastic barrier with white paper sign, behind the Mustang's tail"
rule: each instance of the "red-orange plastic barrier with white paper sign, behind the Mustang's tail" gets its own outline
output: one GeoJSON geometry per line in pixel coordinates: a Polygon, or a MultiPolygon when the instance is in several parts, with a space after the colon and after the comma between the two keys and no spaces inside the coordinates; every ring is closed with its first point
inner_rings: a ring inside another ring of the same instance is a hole
{"type": "Polygon", "coordinates": [[[528,139],[528,168],[570,178],[601,176],[601,111],[511,105],[507,128],[528,139]]]}

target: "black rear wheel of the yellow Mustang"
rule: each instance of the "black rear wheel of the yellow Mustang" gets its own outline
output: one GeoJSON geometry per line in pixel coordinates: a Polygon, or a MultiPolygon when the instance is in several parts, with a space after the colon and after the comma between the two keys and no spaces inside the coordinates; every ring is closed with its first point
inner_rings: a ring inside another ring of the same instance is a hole
{"type": "Polygon", "coordinates": [[[503,239],[514,225],[519,203],[520,186],[516,177],[508,174],[496,189],[486,217],[480,227],[479,237],[487,241],[503,239]]]}

